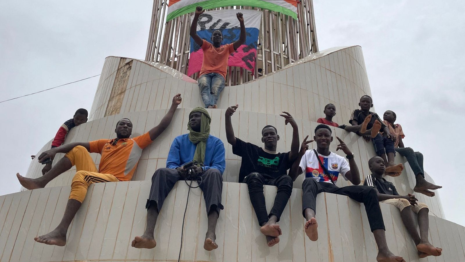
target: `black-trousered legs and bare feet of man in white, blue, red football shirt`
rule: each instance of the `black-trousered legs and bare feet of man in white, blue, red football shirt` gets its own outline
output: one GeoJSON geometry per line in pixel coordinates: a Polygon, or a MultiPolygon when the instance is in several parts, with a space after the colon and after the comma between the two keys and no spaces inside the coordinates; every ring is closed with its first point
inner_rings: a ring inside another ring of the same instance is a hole
{"type": "Polygon", "coordinates": [[[312,241],[318,240],[318,224],[315,219],[316,195],[321,192],[345,195],[360,203],[364,203],[368,222],[378,246],[378,262],[403,261],[401,256],[396,256],[387,247],[385,227],[378,196],[374,188],[368,186],[337,187],[331,183],[316,182],[313,178],[304,179],[302,184],[302,208],[306,216],[305,232],[312,241]],[[312,217],[313,216],[313,217],[312,217]]]}

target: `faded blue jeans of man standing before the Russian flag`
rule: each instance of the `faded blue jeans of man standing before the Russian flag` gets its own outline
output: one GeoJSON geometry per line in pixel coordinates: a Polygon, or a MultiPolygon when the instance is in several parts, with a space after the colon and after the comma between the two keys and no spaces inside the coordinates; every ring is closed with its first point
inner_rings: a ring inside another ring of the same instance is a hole
{"type": "Polygon", "coordinates": [[[216,104],[219,94],[225,89],[225,78],[218,73],[208,73],[200,76],[198,82],[205,108],[216,104]]]}

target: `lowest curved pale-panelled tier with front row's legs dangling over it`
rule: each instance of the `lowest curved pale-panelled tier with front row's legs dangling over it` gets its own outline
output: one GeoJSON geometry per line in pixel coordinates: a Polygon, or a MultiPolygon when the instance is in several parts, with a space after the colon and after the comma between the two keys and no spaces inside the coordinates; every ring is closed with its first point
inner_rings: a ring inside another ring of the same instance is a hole
{"type": "MultiPolygon", "coordinates": [[[[68,231],[65,247],[33,240],[55,228],[64,212],[69,186],[56,186],[0,196],[0,261],[177,261],[187,186],[180,181],[160,212],[154,249],[131,247],[146,223],[146,198],[150,181],[99,183],[87,197],[68,231]]],[[[265,186],[266,206],[271,208],[276,187],[265,186]]],[[[302,190],[294,188],[279,225],[283,234],[273,248],[265,237],[250,204],[247,186],[223,184],[217,225],[219,248],[203,249],[206,208],[199,188],[191,190],[184,226],[181,261],[293,261],[373,262],[377,249],[363,204],[345,196],[321,193],[317,197],[319,240],[310,241],[303,230],[302,190]]],[[[465,228],[430,216],[430,240],[444,250],[440,257],[419,260],[397,208],[382,204],[386,239],[395,254],[409,262],[465,261],[465,228]]]]}

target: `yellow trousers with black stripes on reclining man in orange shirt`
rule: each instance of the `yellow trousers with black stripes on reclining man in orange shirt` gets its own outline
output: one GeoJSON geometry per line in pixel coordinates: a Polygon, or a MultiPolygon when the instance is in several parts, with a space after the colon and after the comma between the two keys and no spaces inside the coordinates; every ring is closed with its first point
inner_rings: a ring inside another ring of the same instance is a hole
{"type": "Polygon", "coordinates": [[[78,200],[82,203],[86,198],[87,188],[92,183],[120,181],[112,174],[99,173],[84,146],[75,146],[70,152],[66,153],[65,157],[71,161],[72,165],[76,166],[76,174],[71,183],[69,199],[78,200]]]}

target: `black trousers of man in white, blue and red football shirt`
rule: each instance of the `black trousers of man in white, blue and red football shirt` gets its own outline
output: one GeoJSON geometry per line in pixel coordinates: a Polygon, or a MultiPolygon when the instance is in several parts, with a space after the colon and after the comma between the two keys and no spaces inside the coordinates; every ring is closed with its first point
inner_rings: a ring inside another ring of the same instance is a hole
{"type": "Polygon", "coordinates": [[[384,229],[383,214],[379,207],[378,194],[371,186],[344,186],[337,187],[332,183],[317,182],[313,178],[306,178],[302,183],[302,213],[305,217],[305,209],[312,208],[316,213],[316,200],[319,193],[333,193],[344,195],[365,205],[366,215],[371,230],[384,229]]]}

